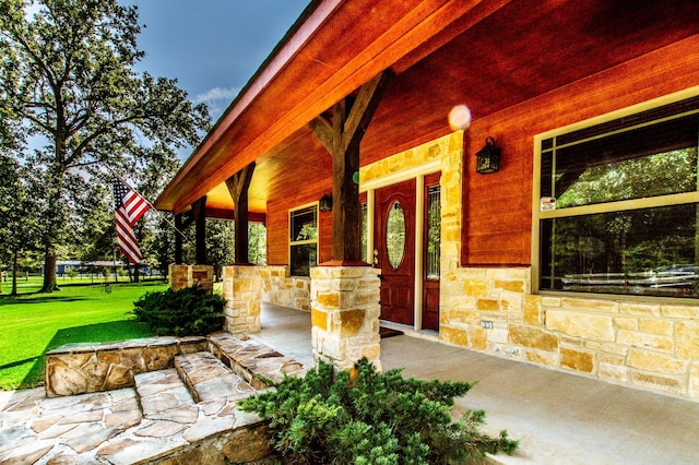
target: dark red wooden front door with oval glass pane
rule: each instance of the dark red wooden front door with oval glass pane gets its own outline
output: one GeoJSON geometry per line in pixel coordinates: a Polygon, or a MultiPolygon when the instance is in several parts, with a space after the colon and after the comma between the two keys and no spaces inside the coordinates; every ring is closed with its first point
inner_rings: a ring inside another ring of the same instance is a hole
{"type": "Polygon", "coordinates": [[[415,322],[415,180],[376,191],[375,255],[381,269],[381,319],[415,322]]]}

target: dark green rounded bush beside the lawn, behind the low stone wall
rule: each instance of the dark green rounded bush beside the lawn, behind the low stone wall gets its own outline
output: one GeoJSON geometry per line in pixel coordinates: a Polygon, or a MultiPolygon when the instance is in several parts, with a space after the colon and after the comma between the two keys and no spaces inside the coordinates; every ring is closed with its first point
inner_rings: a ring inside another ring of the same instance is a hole
{"type": "Polygon", "coordinates": [[[133,302],[137,320],[159,335],[205,335],[223,329],[226,300],[201,287],[146,293],[133,302]]]}

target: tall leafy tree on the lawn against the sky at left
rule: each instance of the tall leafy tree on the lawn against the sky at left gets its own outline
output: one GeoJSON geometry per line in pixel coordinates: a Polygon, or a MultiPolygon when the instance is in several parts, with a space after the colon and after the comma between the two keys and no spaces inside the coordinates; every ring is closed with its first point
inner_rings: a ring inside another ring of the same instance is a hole
{"type": "Polygon", "coordinates": [[[42,218],[44,290],[56,287],[74,207],[94,199],[86,184],[112,171],[157,192],[176,151],[210,124],[205,106],[192,106],[175,80],[134,71],[140,31],[137,8],[117,0],[0,0],[0,135],[17,140],[21,123],[43,141],[23,163],[42,218]]]}

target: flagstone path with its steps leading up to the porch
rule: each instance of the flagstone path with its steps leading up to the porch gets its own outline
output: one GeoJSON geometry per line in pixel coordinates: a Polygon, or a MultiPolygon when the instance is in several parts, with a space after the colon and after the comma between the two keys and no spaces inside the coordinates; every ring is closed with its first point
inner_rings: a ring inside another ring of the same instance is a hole
{"type": "Polygon", "coordinates": [[[261,380],[279,382],[306,367],[245,336],[210,342],[223,360],[212,351],[181,355],[174,368],[137,374],[134,388],[52,398],[44,388],[0,392],[0,464],[208,464],[259,455],[269,448],[263,421],[237,402],[268,389],[261,380]]]}

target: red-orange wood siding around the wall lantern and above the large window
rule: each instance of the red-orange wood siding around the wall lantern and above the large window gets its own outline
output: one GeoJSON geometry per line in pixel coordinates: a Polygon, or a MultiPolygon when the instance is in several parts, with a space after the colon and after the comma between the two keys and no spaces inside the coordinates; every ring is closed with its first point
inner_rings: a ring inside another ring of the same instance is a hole
{"type": "Polygon", "coordinates": [[[533,139],[537,133],[699,84],[699,36],[476,119],[464,140],[463,265],[531,264],[533,139]],[[475,172],[491,135],[500,171],[475,172]]]}

